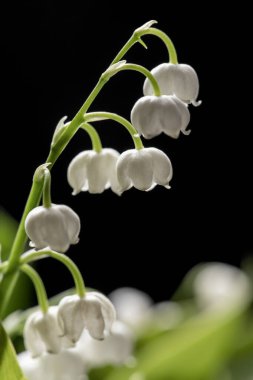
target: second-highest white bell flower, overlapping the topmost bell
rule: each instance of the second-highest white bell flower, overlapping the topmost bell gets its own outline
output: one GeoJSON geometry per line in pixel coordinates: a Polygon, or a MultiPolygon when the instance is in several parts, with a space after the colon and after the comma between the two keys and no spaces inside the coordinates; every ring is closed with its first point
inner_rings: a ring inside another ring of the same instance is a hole
{"type": "Polygon", "coordinates": [[[166,135],[177,139],[180,131],[186,131],[190,121],[187,105],[174,95],[144,96],[137,100],[131,111],[131,121],[146,139],[166,135]]]}

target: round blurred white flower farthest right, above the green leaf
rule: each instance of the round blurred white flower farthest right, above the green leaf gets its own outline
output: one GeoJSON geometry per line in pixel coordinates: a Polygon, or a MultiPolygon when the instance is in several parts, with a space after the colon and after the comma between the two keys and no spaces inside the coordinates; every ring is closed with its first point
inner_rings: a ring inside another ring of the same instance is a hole
{"type": "Polygon", "coordinates": [[[193,290],[199,305],[213,311],[243,307],[251,297],[246,274],[223,263],[205,264],[194,279],[193,290]]]}

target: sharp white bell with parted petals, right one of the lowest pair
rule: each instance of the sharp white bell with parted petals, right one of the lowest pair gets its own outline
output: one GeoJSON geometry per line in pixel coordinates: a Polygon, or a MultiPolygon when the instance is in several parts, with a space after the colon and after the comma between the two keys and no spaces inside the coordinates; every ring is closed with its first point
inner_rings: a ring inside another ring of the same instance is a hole
{"type": "Polygon", "coordinates": [[[112,303],[103,294],[89,292],[85,297],[64,297],[59,303],[58,321],[62,334],[73,343],[87,329],[94,339],[104,339],[116,319],[112,303]]]}

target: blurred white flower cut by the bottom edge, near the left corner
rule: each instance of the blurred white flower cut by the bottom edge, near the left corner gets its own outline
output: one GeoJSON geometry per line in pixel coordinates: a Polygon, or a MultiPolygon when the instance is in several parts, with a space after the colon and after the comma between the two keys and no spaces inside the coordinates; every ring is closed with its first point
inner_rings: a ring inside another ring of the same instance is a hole
{"type": "Polygon", "coordinates": [[[38,358],[26,351],[18,355],[18,361],[27,380],[87,380],[84,362],[74,350],[38,358]]]}

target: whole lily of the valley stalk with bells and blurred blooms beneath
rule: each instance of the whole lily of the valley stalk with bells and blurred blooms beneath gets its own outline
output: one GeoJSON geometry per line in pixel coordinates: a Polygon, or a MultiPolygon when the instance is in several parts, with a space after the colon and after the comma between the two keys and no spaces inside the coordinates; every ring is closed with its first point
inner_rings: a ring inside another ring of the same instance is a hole
{"type": "Polygon", "coordinates": [[[121,195],[131,187],[150,191],[156,185],[170,188],[169,157],[156,147],[145,148],[142,136],[150,139],[164,133],[178,138],[180,132],[188,135],[189,107],[199,104],[199,82],[192,67],[178,63],[172,41],[153,27],[155,23],[149,21],[134,31],[76,116],[69,121],[67,117],[59,121],[48,158],[35,171],[9,258],[0,264],[1,289],[8,288],[2,292],[1,315],[12,296],[18,271],[30,277],[38,297],[39,308],[28,317],[24,327],[27,351],[19,356],[28,380],[84,380],[92,366],[91,357],[93,362],[104,361],[105,364],[124,363],[131,357],[134,340],[129,325],[117,320],[114,306],[107,297],[97,291],[86,291],[82,274],[65,255],[70,246],[79,241],[80,219],[67,205],[52,203],[51,170],[72,137],[84,130],[90,136],[92,149],[80,152],[69,164],[67,180],[74,195],[82,191],[102,193],[106,189],[121,195]],[[146,46],[143,41],[146,35],[160,38],[169,55],[169,62],[151,71],[122,60],[134,44],[139,42],[146,46]],[[145,77],[144,95],[133,105],[131,121],[104,110],[89,112],[102,88],[110,85],[110,80],[123,70],[134,70],[145,77]],[[103,147],[94,128],[96,122],[103,120],[114,120],[126,128],[133,147],[121,154],[103,147]],[[31,250],[24,252],[28,239],[31,250]],[[62,298],[56,306],[49,306],[43,281],[32,266],[34,261],[46,257],[63,263],[75,284],[76,294],[62,298]]]}

